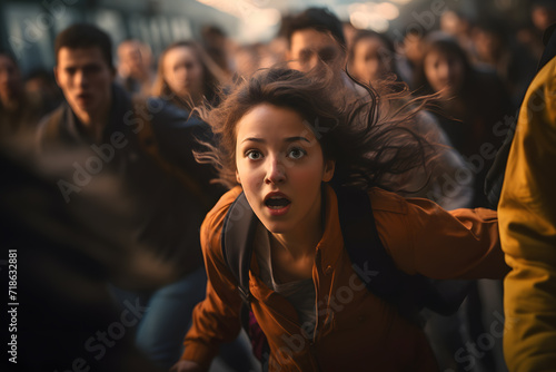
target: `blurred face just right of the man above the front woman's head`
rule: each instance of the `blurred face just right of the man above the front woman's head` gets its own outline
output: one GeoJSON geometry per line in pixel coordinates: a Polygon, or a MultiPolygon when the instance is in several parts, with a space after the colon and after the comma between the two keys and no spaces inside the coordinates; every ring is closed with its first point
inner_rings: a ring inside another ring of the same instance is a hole
{"type": "Polygon", "coordinates": [[[359,39],[354,45],[351,72],[364,82],[376,81],[391,72],[393,53],[377,37],[359,39]]]}

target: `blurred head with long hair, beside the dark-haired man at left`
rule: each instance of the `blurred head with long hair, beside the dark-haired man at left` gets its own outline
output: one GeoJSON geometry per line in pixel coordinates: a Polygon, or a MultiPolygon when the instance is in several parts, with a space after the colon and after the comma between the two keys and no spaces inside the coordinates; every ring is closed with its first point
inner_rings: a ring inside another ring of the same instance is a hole
{"type": "Polygon", "coordinates": [[[216,104],[226,82],[224,71],[195,41],[178,41],[160,55],[152,95],[191,110],[207,100],[216,104]]]}

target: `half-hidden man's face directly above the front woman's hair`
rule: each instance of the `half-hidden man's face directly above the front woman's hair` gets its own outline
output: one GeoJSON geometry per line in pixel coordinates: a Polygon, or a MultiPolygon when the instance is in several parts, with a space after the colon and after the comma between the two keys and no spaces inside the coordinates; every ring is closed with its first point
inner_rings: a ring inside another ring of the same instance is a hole
{"type": "Polygon", "coordinates": [[[287,59],[290,68],[300,71],[310,70],[319,59],[330,66],[334,71],[338,71],[344,67],[345,56],[330,32],[304,29],[291,35],[287,59]]]}

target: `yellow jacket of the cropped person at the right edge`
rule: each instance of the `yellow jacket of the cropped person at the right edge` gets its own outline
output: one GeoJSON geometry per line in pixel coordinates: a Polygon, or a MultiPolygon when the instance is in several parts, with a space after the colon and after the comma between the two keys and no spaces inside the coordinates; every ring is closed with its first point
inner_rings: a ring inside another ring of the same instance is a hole
{"type": "Polygon", "coordinates": [[[509,371],[556,371],[556,58],[533,80],[498,206],[509,371]]]}

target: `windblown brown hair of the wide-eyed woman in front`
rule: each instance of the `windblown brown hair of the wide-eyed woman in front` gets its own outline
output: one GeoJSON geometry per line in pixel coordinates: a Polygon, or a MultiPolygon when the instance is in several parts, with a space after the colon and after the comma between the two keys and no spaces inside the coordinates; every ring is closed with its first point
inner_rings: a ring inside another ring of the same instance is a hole
{"type": "Polygon", "coordinates": [[[196,154],[197,159],[217,168],[218,182],[227,187],[237,185],[237,124],[257,105],[270,104],[301,115],[321,145],[325,159],[336,161],[332,184],[401,192],[391,186],[391,177],[415,167],[426,169],[434,156],[428,141],[411,130],[426,100],[418,105],[410,100],[395,111],[386,110],[385,104],[406,97],[407,88],[400,91],[399,84],[384,81],[380,92],[364,86],[367,95],[360,97],[347,87],[330,89],[334,80],[334,72],[322,63],[307,74],[286,68],[258,71],[218,108],[201,110],[217,144],[205,144],[208,150],[196,154]]]}

